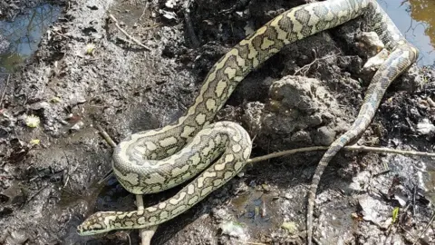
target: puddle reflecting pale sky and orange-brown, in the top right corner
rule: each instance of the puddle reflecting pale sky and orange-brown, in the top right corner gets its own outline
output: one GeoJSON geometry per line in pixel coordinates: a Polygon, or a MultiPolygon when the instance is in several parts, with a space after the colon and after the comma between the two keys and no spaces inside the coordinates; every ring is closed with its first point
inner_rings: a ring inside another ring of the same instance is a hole
{"type": "Polygon", "coordinates": [[[406,39],[420,49],[419,65],[435,65],[435,0],[377,0],[406,39]]]}

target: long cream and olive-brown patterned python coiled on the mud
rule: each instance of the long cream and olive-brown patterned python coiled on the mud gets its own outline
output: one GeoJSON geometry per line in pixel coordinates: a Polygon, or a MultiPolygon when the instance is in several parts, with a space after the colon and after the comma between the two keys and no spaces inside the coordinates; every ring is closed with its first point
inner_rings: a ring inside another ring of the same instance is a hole
{"type": "Polygon", "coordinates": [[[307,240],[312,242],[315,191],[333,156],[372,121],[389,84],[413,64],[418,50],[401,35],[374,0],[334,0],[300,5],[277,15],[218,60],[198,96],[178,121],[124,139],[113,153],[113,171],[135,194],[164,191],[197,176],[175,196],[143,211],[100,211],[78,227],[81,235],[143,229],[170,220],[204,199],[245,166],[251,152],[248,133],[235,122],[210,124],[237,83],[286,44],[365,15],[391,51],[372,78],[362,109],[348,132],[325,152],[308,192],[307,240]]]}

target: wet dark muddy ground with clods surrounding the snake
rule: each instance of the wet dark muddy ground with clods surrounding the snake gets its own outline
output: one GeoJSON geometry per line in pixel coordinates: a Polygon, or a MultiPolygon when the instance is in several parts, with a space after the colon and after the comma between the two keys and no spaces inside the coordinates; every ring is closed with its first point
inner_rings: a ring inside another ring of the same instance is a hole
{"type": "MultiPolygon", "coordinates": [[[[179,1],[67,2],[5,89],[0,243],[138,244],[134,230],[75,232],[95,211],[135,209],[133,195],[114,179],[96,184],[111,169],[111,148],[94,126],[120,141],[172,122],[232,45],[302,3],[197,0],[186,14],[179,1]],[[109,12],[148,49],[121,34],[109,12]],[[26,126],[28,115],[39,117],[39,126],[26,126]]],[[[247,76],[217,120],[242,123],[255,137],[253,156],[331,143],[353,122],[371,76],[359,72],[366,61],[354,45],[360,24],[285,47],[247,76]]],[[[359,143],[433,152],[434,82],[434,70],[413,66],[391,86],[359,143]]],[[[304,243],[306,189],[321,157],[306,152],[248,165],[243,176],[161,225],[152,244],[304,243]]],[[[411,244],[430,222],[434,171],[430,158],[341,152],[321,181],[315,236],[323,244],[411,244]]],[[[418,241],[435,244],[434,237],[432,222],[418,241]]]]}

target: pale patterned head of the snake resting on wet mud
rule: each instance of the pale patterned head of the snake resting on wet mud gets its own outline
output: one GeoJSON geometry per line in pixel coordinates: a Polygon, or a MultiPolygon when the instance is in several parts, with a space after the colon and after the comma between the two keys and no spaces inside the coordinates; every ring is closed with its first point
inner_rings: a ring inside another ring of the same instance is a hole
{"type": "Polygon", "coordinates": [[[89,236],[113,230],[111,217],[116,217],[115,211],[100,211],[92,214],[88,219],[77,227],[77,233],[81,236],[89,236]]]}

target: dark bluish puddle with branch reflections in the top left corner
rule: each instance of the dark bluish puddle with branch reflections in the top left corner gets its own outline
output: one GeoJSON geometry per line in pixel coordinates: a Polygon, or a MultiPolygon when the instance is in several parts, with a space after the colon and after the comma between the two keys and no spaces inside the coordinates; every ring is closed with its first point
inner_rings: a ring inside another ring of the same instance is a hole
{"type": "Polygon", "coordinates": [[[61,14],[61,7],[40,5],[26,15],[18,15],[13,22],[0,21],[0,34],[10,43],[5,54],[0,54],[0,73],[12,73],[14,68],[37,50],[42,35],[61,14]]]}

